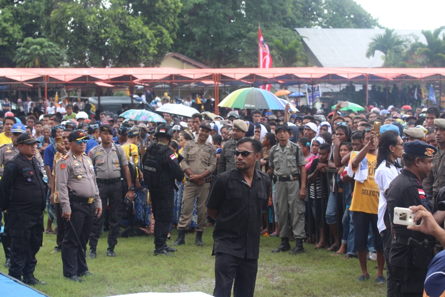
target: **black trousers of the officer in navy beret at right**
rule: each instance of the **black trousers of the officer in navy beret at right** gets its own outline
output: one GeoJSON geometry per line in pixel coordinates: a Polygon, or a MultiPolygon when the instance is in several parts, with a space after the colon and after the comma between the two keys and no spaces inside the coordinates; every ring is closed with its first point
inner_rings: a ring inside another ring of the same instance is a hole
{"type": "Polygon", "coordinates": [[[392,266],[394,279],[399,289],[399,297],[422,297],[428,269],[406,269],[392,266]]]}

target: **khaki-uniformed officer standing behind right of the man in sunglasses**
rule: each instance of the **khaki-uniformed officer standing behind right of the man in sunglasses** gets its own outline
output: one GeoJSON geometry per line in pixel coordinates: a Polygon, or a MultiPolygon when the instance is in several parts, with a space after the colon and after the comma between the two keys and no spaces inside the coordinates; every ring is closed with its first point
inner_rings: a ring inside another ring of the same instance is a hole
{"type": "Polygon", "coordinates": [[[294,236],[297,245],[290,254],[297,254],[305,251],[303,239],[305,238],[306,162],[300,146],[289,141],[290,131],[292,130],[286,122],[276,125],[275,135],[279,143],[270,148],[270,169],[267,172],[269,174],[273,172],[276,178],[278,226],[281,237],[281,245],[272,251],[289,250],[289,236],[294,236]]]}

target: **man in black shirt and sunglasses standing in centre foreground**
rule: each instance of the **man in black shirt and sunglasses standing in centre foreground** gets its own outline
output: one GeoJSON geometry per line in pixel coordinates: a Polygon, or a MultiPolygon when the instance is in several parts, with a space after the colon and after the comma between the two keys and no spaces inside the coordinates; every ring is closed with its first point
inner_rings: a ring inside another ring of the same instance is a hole
{"type": "Polygon", "coordinates": [[[255,169],[260,141],[242,138],[234,150],[236,167],[216,176],[207,199],[213,232],[215,297],[254,295],[260,252],[261,210],[267,205],[270,179],[255,169]],[[234,223],[236,222],[236,223],[234,223]]]}

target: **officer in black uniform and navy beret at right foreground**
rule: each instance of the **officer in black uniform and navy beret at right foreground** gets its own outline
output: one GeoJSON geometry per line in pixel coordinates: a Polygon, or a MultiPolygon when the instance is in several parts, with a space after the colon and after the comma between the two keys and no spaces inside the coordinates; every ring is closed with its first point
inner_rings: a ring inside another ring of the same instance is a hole
{"type": "Polygon", "coordinates": [[[432,212],[432,200],[421,181],[433,167],[433,155],[437,153],[437,148],[420,141],[405,143],[403,148],[405,165],[386,191],[388,213],[394,229],[389,262],[393,267],[399,296],[421,297],[428,264],[434,257],[436,239],[409,230],[404,225],[394,224],[394,208],[423,205],[432,212]]]}

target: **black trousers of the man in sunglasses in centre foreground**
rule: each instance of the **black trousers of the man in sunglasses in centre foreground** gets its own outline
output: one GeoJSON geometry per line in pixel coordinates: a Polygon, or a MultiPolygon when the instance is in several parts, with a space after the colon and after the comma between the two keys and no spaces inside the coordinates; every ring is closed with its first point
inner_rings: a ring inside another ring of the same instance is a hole
{"type": "Polygon", "coordinates": [[[254,296],[257,280],[258,259],[238,258],[230,254],[217,252],[215,255],[215,297],[254,296]]]}

